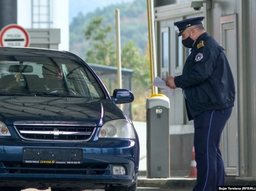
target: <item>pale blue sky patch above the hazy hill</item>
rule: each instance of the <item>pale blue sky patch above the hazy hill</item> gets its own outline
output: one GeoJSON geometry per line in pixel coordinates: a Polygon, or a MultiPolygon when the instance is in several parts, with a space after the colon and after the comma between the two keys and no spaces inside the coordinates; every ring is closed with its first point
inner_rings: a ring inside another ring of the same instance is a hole
{"type": "Polygon", "coordinates": [[[85,15],[98,7],[103,8],[111,4],[133,1],[134,0],[69,0],[69,22],[71,22],[73,17],[76,17],[79,12],[85,15]]]}

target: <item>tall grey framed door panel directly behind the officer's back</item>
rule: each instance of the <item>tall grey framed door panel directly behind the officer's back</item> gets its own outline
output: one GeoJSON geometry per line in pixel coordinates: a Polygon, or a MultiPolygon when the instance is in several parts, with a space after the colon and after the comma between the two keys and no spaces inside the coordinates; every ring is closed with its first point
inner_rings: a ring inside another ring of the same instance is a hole
{"type": "Polygon", "coordinates": [[[226,56],[235,81],[235,103],[232,114],[227,121],[222,135],[222,154],[224,157],[226,175],[239,175],[239,150],[238,150],[238,61],[237,61],[237,22],[236,14],[220,18],[221,46],[226,50],[226,56]]]}

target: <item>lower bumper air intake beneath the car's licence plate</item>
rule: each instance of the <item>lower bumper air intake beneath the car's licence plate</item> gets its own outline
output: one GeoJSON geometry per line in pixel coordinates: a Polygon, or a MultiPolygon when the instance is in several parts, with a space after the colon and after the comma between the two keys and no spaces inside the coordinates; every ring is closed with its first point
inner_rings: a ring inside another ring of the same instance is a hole
{"type": "Polygon", "coordinates": [[[61,164],[25,164],[20,162],[3,162],[8,174],[89,174],[102,175],[110,173],[108,164],[61,165],[61,164]]]}

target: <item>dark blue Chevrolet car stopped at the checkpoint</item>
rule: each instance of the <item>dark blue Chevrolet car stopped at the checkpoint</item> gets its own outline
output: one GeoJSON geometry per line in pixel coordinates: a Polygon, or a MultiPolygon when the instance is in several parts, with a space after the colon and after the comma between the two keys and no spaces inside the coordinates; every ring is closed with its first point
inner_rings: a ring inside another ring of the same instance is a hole
{"type": "Polygon", "coordinates": [[[139,139],[92,68],[70,52],[0,47],[0,190],[135,191],[139,139]]]}

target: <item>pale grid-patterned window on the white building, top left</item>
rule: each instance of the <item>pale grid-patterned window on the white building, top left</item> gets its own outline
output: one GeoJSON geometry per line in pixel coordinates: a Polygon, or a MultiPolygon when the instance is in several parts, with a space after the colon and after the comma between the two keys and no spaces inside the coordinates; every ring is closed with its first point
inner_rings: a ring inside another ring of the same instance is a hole
{"type": "Polygon", "coordinates": [[[32,0],[32,28],[52,28],[51,0],[32,0]]]}

